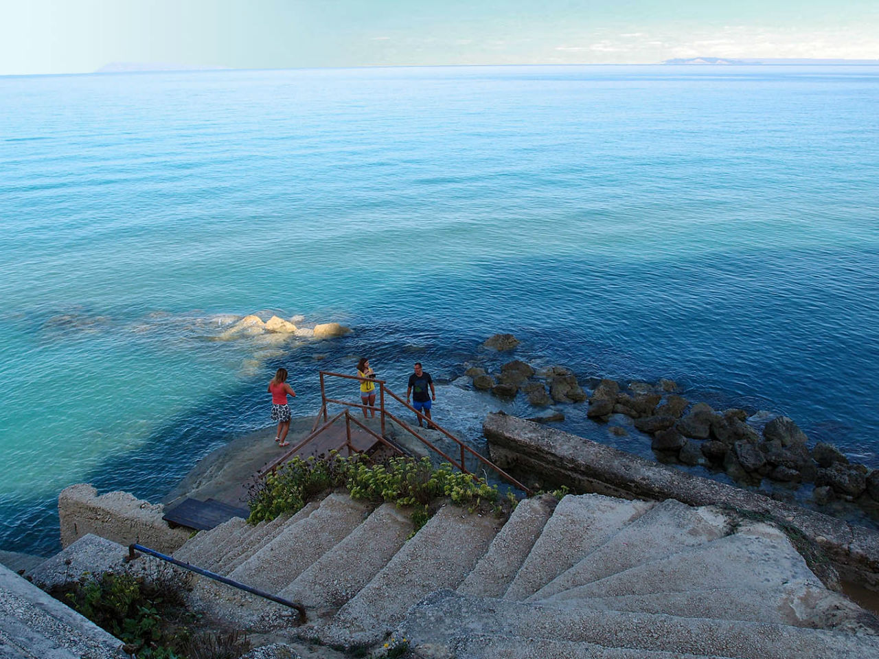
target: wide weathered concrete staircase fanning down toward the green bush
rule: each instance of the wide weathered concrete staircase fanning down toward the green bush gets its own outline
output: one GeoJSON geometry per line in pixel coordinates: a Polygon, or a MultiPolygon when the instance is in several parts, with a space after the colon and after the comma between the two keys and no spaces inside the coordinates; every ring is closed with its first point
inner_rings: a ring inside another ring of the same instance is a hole
{"type": "MultiPolygon", "coordinates": [[[[70,549],[71,547],[69,547],[70,549]]],[[[415,657],[879,659],[875,617],[828,590],[773,525],[711,507],[535,497],[504,521],[333,493],[200,532],[175,557],[307,606],[193,579],[193,605],[260,634],[415,657]],[[281,612],[283,609],[283,612],[281,612]]]]}

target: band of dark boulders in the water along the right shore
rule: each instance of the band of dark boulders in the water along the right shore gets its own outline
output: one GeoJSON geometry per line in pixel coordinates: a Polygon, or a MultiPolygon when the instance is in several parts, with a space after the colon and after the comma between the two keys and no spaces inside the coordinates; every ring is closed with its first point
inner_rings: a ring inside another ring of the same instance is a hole
{"type": "MultiPolygon", "coordinates": [[[[518,345],[512,334],[498,334],[483,348],[506,352],[518,345]]],[[[812,502],[818,506],[841,501],[868,512],[879,511],[879,469],[848,460],[832,444],[810,445],[806,434],[787,416],[767,410],[716,410],[680,395],[673,380],[578,380],[567,366],[534,368],[521,359],[506,362],[497,373],[470,366],[465,375],[475,389],[503,400],[521,393],[535,408],[585,403],[586,415],[599,424],[607,424],[614,415],[626,416],[650,438],[650,448],[662,462],[724,472],[748,487],[767,482],[788,489],[810,484],[814,486],[812,502]]],[[[549,423],[563,418],[556,411],[532,420],[549,423]]],[[[611,430],[627,434],[618,426],[611,430]]]]}

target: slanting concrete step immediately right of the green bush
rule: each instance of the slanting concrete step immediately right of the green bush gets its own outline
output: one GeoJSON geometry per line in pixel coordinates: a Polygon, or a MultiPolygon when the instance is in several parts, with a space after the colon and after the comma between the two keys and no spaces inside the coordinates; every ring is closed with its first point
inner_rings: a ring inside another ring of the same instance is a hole
{"type": "Polygon", "coordinates": [[[504,528],[491,541],[488,552],[458,586],[458,592],[501,597],[555,509],[556,498],[553,496],[535,496],[520,501],[504,528]]]}

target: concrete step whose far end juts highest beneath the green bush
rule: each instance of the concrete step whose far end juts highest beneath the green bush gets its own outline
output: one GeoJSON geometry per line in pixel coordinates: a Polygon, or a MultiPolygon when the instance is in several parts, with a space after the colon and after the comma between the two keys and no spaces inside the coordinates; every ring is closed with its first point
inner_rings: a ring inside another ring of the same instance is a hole
{"type": "Polygon", "coordinates": [[[277,593],[360,525],[370,511],[367,503],[333,493],[309,517],[287,524],[280,535],[229,573],[229,578],[277,593]]]}

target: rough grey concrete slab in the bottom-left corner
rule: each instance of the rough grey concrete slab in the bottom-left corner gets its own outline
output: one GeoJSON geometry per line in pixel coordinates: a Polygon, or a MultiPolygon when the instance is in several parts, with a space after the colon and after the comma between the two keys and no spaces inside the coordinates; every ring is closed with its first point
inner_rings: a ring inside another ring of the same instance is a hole
{"type": "Polygon", "coordinates": [[[122,641],[0,566],[0,657],[116,659],[122,641]]]}

